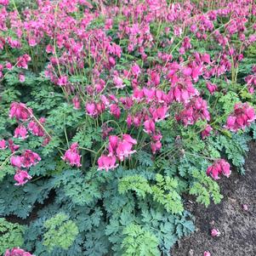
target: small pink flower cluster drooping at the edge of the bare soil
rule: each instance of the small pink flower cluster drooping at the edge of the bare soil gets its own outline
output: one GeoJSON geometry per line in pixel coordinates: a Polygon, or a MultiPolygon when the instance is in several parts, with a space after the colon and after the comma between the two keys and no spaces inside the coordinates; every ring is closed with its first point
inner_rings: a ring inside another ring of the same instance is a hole
{"type": "Polygon", "coordinates": [[[219,174],[223,174],[226,177],[230,177],[230,164],[224,159],[219,159],[213,162],[212,166],[209,166],[207,169],[207,174],[211,175],[213,179],[219,179],[219,174]]]}

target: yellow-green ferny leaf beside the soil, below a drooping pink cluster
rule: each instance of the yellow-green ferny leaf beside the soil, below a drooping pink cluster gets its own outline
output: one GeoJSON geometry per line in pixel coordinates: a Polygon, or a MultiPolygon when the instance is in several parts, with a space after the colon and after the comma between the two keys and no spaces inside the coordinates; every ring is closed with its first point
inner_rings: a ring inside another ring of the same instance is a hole
{"type": "Polygon", "coordinates": [[[194,181],[190,188],[190,194],[196,196],[196,202],[209,206],[211,198],[214,203],[219,203],[223,196],[220,194],[219,185],[212,178],[208,177],[205,172],[194,171],[194,181]]]}

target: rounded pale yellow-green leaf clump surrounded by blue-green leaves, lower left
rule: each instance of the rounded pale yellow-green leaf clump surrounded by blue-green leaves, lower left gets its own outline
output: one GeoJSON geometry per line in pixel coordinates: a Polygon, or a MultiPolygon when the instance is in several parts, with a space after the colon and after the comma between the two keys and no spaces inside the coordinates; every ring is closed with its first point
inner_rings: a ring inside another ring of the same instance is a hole
{"type": "Polygon", "coordinates": [[[43,245],[51,252],[54,247],[68,249],[75,241],[78,228],[65,213],[58,213],[44,223],[43,245]]]}

